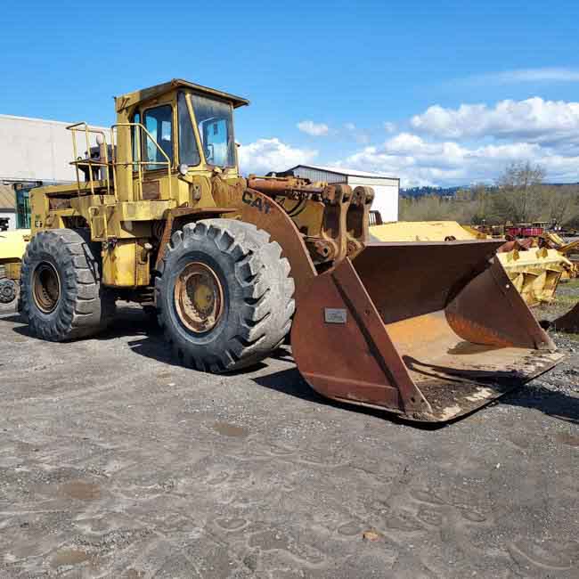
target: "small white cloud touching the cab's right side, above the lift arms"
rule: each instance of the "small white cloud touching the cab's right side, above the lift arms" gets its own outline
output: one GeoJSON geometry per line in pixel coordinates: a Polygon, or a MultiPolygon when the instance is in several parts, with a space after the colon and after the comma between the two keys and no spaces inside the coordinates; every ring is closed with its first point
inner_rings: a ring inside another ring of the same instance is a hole
{"type": "Polygon", "coordinates": [[[241,172],[265,175],[269,171],[284,171],[290,167],[312,161],[318,151],[298,149],[279,139],[258,139],[255,143],[241,145],[238,150],[241,172]]]}

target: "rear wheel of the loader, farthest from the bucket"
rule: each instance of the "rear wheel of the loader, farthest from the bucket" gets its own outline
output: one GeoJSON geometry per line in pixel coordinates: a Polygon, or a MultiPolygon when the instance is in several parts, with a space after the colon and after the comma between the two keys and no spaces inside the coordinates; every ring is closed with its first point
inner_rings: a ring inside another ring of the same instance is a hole
{"type": "Polygon", "coordinates": [[[60,342],[106,327],[114,298],[101,286],[99,247],[87,230],[46,230],[29,242],[22,260],[20,305],[35,336],[60,342]]]}

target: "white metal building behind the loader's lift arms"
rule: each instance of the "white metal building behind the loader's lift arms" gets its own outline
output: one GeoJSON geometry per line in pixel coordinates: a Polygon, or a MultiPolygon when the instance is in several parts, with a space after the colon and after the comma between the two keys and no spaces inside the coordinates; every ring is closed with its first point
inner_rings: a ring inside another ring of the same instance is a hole
{"type": "Polygon", "coordinates": [[[358,185],[371,187],[376,197],[372,209],[378,209],[382,220],[398,221],[398,195],[400,179],[379,173],[344,169],[338,167],[320,167],[317,165],[297,165],[277,175],[295,175],[311,181],[325,181],[326,183],[347,183],[354,189],[358,185]]]}

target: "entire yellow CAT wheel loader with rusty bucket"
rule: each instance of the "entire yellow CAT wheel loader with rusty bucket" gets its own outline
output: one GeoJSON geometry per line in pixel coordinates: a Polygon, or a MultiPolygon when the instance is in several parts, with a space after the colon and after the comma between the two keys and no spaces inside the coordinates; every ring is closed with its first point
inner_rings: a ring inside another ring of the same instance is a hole
{"type": "Polygon", "coordinates": [[[32,192],[33,334],[93,335],[128,299],[155,308],[177,361],[229,372],[290,333],[322,396],[417,421],[472,412],[558,363],[496,261],[502,241],[371,243],[370,188],[242,177],[233,111],[247,104],[175,79],[118,96],[110,142],[70,126],[87,144],[98,133],[99,154],[75,146],[77,183],[32,192]]]}

